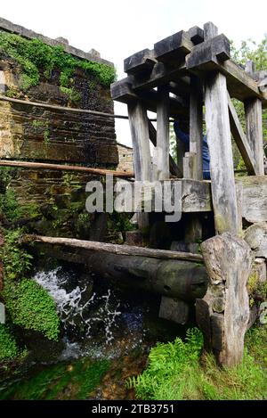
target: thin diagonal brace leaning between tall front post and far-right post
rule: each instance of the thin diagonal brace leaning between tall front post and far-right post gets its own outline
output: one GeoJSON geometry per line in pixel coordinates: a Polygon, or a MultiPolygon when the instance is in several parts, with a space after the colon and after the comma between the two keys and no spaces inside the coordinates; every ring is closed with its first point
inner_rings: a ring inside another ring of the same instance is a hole
{"type": "Polygon", "coordinates": [[[239,117],[233,103],[231,102],[231,97],[228,94],[228,108],[229,108],[229,117],[231,125],[231,134],[233,135],[234,140],[236,141],[239,152],[246,164],[248,173],[252,175],[259,175],[257,164],[255,161],[254,154],[250,148],[250,144],[247,141],[247,136],[244,134],[243,128],[239,122],[239,117]]]}

